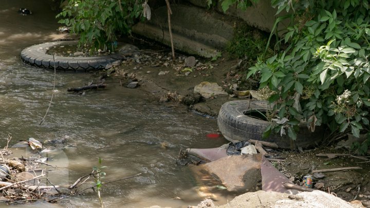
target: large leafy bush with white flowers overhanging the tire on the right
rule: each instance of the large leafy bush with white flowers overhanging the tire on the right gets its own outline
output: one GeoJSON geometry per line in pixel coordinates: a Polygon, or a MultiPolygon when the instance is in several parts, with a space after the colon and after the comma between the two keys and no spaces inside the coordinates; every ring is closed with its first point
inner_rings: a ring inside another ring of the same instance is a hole
{"type": "MultiPolygon", "coordinates": [[[[272,0],[293,20],[281,42],[289,44],[271,58],[261,58],[248,77],[261,76],[260,87],[276,93],[269,101],[279,109],[266,132],[295,139],[298,123],[327,125],[355,137],[368,133],[370,107],[370,15],[367,0],[272,0]],[[361,132],[362,131],[362,132],[361,132]]],[[[361,154],[367,151],[359,148],[361,154]]]]}

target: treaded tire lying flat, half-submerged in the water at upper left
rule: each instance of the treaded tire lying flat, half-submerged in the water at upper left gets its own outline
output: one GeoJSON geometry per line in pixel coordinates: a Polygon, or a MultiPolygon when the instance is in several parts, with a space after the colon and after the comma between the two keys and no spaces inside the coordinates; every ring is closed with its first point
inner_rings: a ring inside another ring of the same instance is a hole
{"type": "Polygon", "coordinates": [[[21,59],[31,66],[40,68],[65,70],[65,71],[89,71],[104,69],[107,64],[112,64],[115,61],[123,60],[124,56],[119,53],[109,54],[105,56],[91,57],[71,57],[71,56],[53,56],[48,54],[48,50],[65,45],[76,45],[77,41],[57,41],[33,45],[25,48],[21,52],[21,59]]]}

